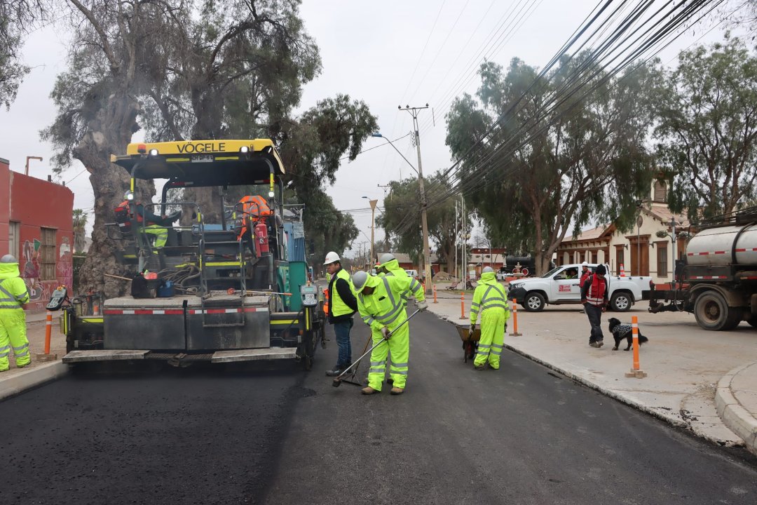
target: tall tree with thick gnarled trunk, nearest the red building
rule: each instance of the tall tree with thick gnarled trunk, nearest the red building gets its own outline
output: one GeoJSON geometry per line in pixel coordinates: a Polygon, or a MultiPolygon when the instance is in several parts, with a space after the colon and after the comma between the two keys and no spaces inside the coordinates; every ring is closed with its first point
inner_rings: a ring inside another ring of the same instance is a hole
{"type": "MultiPolygon", "coordinates": [[[[113,297],[123,292],[123,282],[103,274],[123,272],[123,267],[116,263],[117,244],[107,238],[105,223],[113,222],[113,209],[129,188],[129,177],[110,163],[110,155],[126,152],[139,130],[139,96],[151,82],[145,62],[182,30],[190,16],[185,2],[98,0],[86,7],[70,0],[68,8],[74,26],[69,68],[55,83],[52,98],[58,115],[42,137],[58,151],[58,171],[76,159],[89,172],[95,224],[81,286],[113,297]]],[[[154,192],[152,183],[143,189],[154,192]]]]}

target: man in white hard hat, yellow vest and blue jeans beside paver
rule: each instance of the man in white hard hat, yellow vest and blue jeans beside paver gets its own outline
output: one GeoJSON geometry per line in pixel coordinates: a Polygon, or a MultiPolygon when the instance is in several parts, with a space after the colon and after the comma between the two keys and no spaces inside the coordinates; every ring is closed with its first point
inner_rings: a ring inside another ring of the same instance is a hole
{"type": "Polygon", "coordinates": [[[350,274],[341,267],[341,259],[334,251],[326,254],[326,271],[329,273],[329,323],[334,326],[339,355],[336,366],[326,372],[329,377],[336,377],[352,364],[352,344],[350,330],[352,315],[357,311],[357,299],[352,288],[350,274]]]}

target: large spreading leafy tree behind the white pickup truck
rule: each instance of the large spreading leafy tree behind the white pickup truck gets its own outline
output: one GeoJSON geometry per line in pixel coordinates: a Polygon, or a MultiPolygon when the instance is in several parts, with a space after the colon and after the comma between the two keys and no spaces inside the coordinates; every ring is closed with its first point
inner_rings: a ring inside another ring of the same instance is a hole
{"type": "Polygon", "coordinates": [[[590,220],[630,226],[650,182],[654,67],[612,78],[583,54],[542,79],[517,58],[506,73],[487,62],[479,74],[478,99],[456,98],[447,114],[447,145],[487,235],[533,251],[544,273],[570,229],[590,220]]]}

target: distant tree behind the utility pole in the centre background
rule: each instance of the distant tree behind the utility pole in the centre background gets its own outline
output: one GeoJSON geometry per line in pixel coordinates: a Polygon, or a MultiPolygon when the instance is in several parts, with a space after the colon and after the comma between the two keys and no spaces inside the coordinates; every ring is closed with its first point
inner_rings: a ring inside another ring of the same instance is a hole
{"type": "MultiPolygon", "coordinates": [[[[444,185],[441,176],[435,174],[424,178],[426,192],[436,192],[444,185]]],[[[418,179],[403,179],[389,182],[389,195],[384,199],[384,214],[376,220],[386,234],[395,235],[396,247],[417,262],[423,253],[420,228],[418,179]],[[408,216],[416,218],[408,219],[408,216]]],[[[429,207],[426,213],[428,237],[437,245],[439,263],[447,263],[447,271],[455,268],[455,202],[447,200],[429,207]]]]}

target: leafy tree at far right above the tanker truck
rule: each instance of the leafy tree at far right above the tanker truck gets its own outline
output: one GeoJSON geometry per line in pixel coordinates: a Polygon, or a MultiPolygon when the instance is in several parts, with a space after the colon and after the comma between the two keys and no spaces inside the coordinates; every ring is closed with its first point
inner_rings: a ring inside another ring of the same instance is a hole
{"type": "Polygon", "coordinates": [[[671,209],[712,217],[757,196],[757,58],[740,39],[681,52],[654,106],[671,209]]]}

